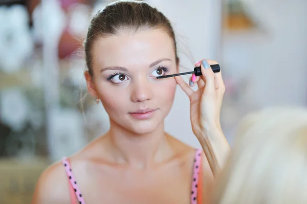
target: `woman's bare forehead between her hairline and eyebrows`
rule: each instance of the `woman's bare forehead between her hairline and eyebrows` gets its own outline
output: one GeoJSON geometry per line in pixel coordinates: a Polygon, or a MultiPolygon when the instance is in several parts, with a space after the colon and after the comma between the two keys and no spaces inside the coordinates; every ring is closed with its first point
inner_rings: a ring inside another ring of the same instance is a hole
{"type": "Polygon", "coordinates": [[[92,51],[93,62],[100,65],[142,64],[175,58],[173,39],[161,29],[99,38],[92,51]]]}

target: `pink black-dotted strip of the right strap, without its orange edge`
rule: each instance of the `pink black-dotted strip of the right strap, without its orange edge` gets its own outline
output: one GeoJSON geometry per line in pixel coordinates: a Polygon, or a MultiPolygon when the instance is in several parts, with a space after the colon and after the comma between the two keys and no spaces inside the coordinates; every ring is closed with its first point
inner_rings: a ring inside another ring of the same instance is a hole
{"type": "Polygon", "coordinates": [[[193,177],[192,177],[192,192],[191,192],[191,204],[197,204],[197,195],[199,184],[199,173],[201,169],[201,161],[202,161],[202,150],[196,150],[194,164],[193,164],[193,177]]]}

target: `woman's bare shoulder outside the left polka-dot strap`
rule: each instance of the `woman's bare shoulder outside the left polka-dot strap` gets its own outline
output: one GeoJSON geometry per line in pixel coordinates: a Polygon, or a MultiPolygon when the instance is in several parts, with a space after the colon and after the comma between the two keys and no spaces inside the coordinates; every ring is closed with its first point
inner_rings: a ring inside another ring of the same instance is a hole
{"type": "Polygon", "coordinates": [[[69,203],[69,180],[61,162],[54,163],[39,176],[32,204],[69,203]]]}

